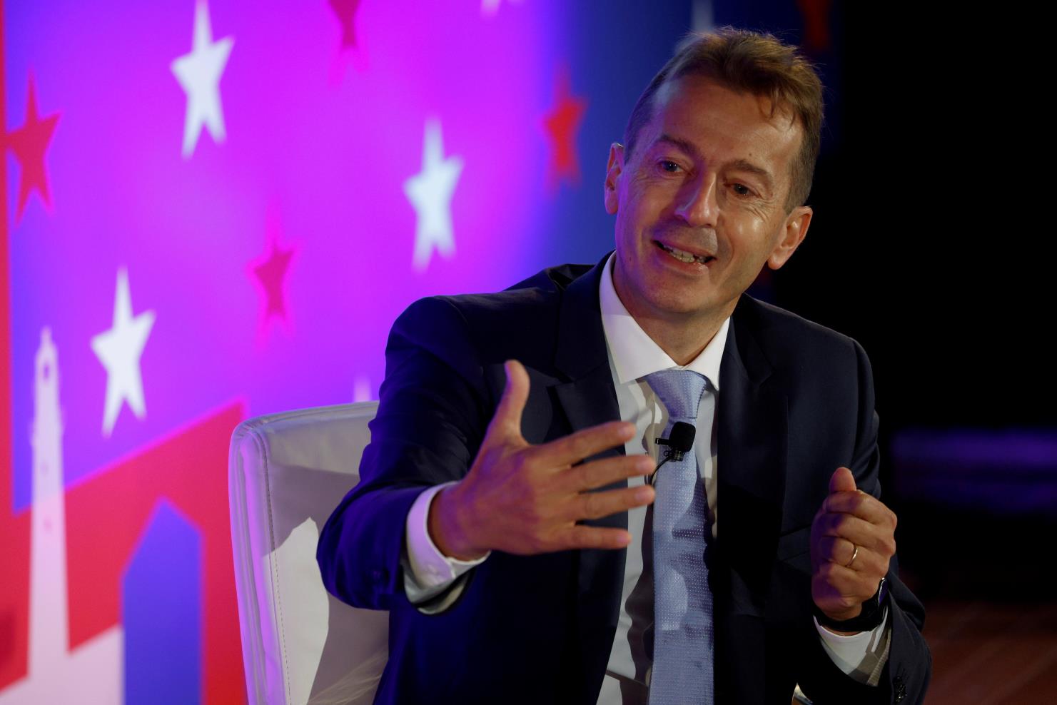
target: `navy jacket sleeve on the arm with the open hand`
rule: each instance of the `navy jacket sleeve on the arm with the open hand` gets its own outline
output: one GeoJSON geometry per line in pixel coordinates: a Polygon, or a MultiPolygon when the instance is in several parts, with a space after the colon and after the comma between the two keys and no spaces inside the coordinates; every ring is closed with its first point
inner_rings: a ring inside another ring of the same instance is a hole
{"type": "Polygon", "coordinates": [[[426,488],[462,479],[480,447],[494,404],[469,340],[459,311],[439,297],[416,301],[393,323],[359,483],[327,521],[316,551],[323,585],[345,602],[392,609],[405,598],[408,512],[426,488]]]}

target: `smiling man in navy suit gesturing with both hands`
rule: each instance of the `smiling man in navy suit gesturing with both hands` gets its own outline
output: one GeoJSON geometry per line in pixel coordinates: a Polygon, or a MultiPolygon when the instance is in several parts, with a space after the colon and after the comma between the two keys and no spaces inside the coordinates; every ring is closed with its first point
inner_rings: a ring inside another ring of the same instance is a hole
{"type": "Polygon", "coordinates": [[[652,702],[644,478],[667,412],[644,379],[666,369],[707,381],[707,702],[924,698],[866,354],[744,295],[808,231],[820,124],[792,48],[696,36],[610,150],[612,255],[397,319],[360,483],[318,551],[331,592],[390,611],[376,702],[652,702]]]}

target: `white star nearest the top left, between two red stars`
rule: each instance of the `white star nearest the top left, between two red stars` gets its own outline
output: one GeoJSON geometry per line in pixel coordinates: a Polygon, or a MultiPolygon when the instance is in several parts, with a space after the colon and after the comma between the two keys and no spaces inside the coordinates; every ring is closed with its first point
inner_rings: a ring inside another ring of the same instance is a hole
{"type": "Polygon", "coordinates": [[[224,73],[234,37],[212,40],[209,26],[209,4],[198,0],[194,5],[194,39],[191,53],[172,61],[172,73],[187,93],[187,115],[184,117],[184,159],[194,153],[202,126],[209,129],[215,142],[224,142],[224,111],[220,105],[220,75],[224,73]]]}

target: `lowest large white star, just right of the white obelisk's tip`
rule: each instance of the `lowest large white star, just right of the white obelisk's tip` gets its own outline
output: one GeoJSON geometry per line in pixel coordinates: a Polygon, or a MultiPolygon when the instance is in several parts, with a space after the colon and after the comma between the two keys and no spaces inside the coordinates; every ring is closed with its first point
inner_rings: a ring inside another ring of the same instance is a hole
{"type": "Polygon", "coordinates": [[[143,379],[140,377],[140,356],[153,326],[153,311],[132,316],[129,275],[122,267],[117,271],[113,328],[92,338],[92,350],[103,367],[107,368],[107,404],[103,414],[103,434],[107,438],[114,429],[122,402],[128,402],[137,419],[147,413],[143,401],[143,379]]]}

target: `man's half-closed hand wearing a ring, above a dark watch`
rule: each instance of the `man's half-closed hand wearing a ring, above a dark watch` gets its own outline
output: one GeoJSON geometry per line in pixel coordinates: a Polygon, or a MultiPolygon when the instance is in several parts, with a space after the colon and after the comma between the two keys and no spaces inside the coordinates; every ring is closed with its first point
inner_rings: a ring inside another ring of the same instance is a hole
{"type": "Polygon", "coordinates": [[[856,489],[851,470],[838,467],[811,525],[815,605],[832,619],[858,616],[863,602],[873,597],[888,574],[893,555],[895,515],[880,500],[856,489]]]}

